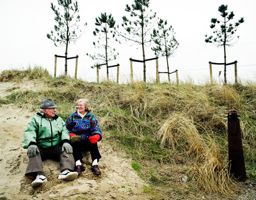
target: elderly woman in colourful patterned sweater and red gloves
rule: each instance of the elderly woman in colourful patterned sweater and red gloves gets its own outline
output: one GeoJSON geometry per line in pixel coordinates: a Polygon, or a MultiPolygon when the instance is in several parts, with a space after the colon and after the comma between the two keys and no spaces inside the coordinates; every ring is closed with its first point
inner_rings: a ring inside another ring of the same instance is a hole
{"type": "Polygon", "coordinates": [[[99,153],[97,141],[102,139],[99,121],[91,113],[91,106],[87,99],[79,99],[76,102],[77,111],[72,113],[65,121],[70,133],[70,143],[73,147],[73,155],[76,161],[76,171],[81,174],[84,171],[82,166],[82,151],[90,150],[92,157],[92,172],[100,175],[98,167],[101,155],[99,153]]]}

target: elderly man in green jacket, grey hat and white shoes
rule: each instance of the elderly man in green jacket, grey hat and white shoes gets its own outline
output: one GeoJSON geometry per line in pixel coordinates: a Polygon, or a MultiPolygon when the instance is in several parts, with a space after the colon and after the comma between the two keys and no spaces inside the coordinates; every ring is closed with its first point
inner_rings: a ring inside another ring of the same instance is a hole
{"type": "Polygon", "coordinates": [[[42,111],[36,113],[28,123],[24,132],[23,148],[28,148],[28,167],[25,175],[33,178],[32,187],[38,187],[47,182],[42,161],[55,159],[60,161],[60,175],[58,179],[75,180],[75,161],[70,145],[70,136],[65,122],[56,115],[56,105],[52,99],[41,101],[42,111]]]}

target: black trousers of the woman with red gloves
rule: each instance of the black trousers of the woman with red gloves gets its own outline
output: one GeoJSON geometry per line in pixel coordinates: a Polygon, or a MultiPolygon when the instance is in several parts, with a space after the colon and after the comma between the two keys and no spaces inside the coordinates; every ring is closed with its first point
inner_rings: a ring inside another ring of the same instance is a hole
{"type": "Polygon", "coordinates": [[[90,151],[91,157],[92,157],[92,162],[97,159],[99,162],[99,159],[101,158],[99,148],[97,143],[90,143],[90,141],[79,141],[77,143],[72,144],[73,147],[73,155],[75,161],[82,161],[83,159],[83,154],[82,152],[90,151]]]}

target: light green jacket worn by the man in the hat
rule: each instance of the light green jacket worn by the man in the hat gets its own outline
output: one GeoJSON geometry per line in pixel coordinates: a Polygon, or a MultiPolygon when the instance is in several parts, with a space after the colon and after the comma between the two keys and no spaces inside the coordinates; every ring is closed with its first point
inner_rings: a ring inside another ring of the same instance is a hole
{"type": "Polygon", "coordinates": [[[50,121],[43,113],[36,113],[28,123],[24,132],[23,148],[29,145],[37,145],[44,148],[70,143],[69,132],[61,117],[55,115],[50,121]]]}

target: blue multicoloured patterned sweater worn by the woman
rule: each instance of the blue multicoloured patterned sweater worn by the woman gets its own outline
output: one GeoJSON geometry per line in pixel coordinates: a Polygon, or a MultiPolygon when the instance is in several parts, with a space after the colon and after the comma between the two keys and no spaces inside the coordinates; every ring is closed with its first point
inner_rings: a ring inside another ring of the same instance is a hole
{"type": "Polygon", "coordinates": [[[70,133],[70,137],[77,135],[81,136],[83,140],[88,140],[89,136],[99,134],[99,141],[102,139],[99,121],[90,112],[82,118],[78,115],[77,111],[75,111],[67,118],[65,124],[70,133]]]}

